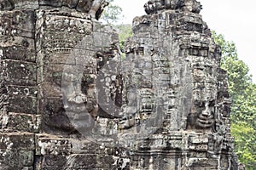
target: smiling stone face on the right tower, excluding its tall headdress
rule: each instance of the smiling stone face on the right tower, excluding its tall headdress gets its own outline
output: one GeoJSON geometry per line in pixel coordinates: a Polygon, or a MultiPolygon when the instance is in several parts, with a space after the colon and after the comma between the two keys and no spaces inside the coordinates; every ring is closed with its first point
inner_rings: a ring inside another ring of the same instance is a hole
{"type": "Polygon", "coordinates": [[[191,128],[207,129],[213,126],[215,100],[195,100],[189,114],[189,126],[191,128]]]}

